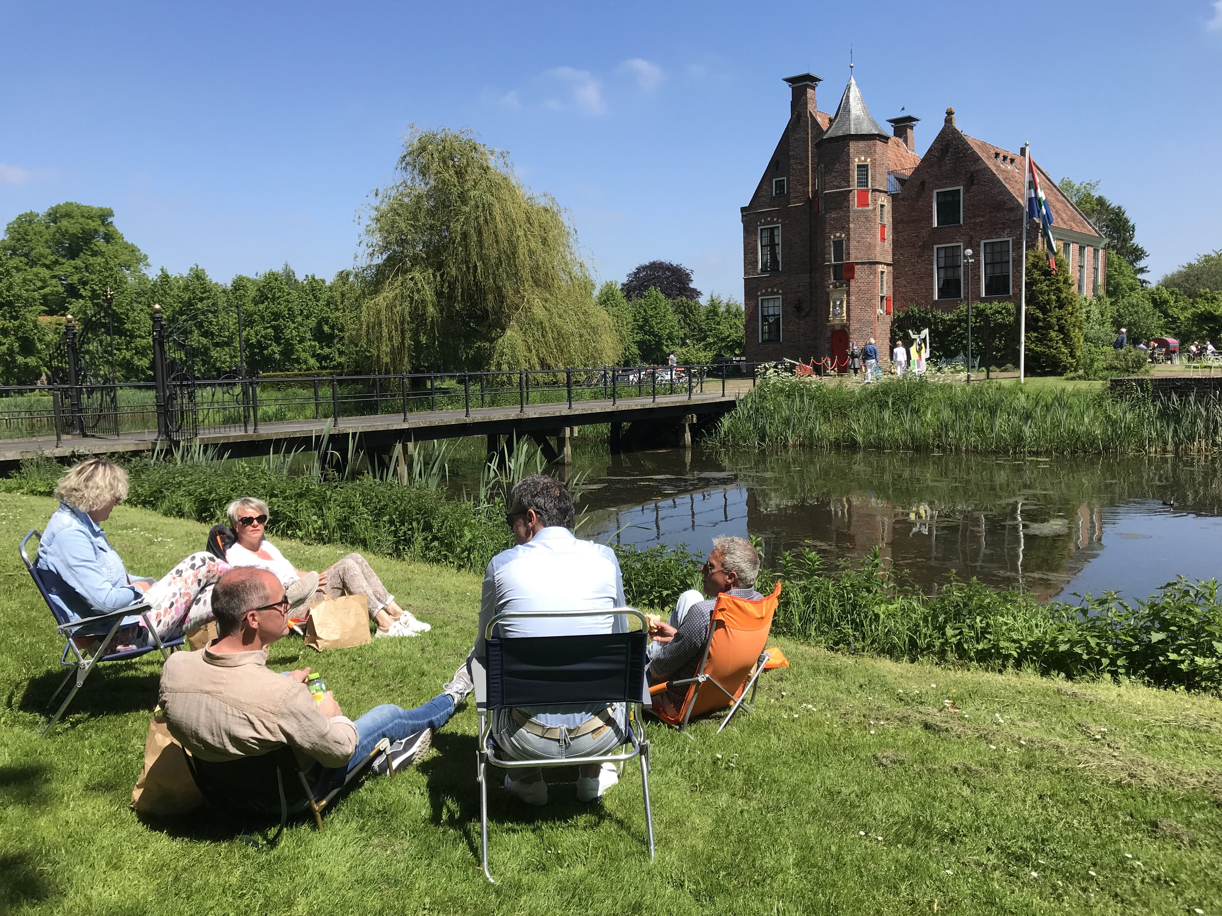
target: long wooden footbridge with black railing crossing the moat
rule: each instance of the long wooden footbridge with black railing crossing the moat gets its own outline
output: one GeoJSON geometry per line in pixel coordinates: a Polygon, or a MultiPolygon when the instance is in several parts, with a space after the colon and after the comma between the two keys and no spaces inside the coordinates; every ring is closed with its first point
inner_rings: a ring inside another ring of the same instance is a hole
{"type": "Polygon", "coordinates": [[[336,437],[349,434],[370,454],[390,453],[396,446],[409,454],[415,442],[461,436],[485,436],[489,453],[495,453],[503,440],[529,436],[547,460],[569,463],[572,437],[593,424],[610,424],[612,451],[633,445],[689,446],[698,427],[732,409],[754,383],[754,366],[733,369],[232,377],[112,391],[108,386],[5,391],[0,392],[5,434],[0,470],[38,456],[70,459],[183,445],[233,458],[314,451],[324,436],[330,435],[334,448],[336,437]],[[516,385],[506,385],[506,376],[516,385]],[[18,402],[24,409],[15,409],[18,402]],[[285,414],[306,416],[275,419],[285,414]],[[44,435],[13,436],[22,425],[39,424],[44,435]]]}

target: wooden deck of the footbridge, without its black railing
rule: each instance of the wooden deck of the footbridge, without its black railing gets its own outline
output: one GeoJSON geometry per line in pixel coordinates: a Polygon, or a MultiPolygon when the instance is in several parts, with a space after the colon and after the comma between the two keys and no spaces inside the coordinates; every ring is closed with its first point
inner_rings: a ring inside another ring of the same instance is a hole
{"type": "MultiPolygon", "coordinates": [[[[467,416],[462,409],[433,410],[408,414],[341,416],[331,427],[331,436],[359,434],[362,447],[379,451],[395,443],[424,442],[461,436],[545,436],[558,430],[593,424],[623,424],[639,421],[682,423],[683,418],[719,415],[731,410],[741,392],[660,394],[627,397],[616,401],[582,401],[572,408],[567,403],[527,404],[513,407],[472,408],[467,416]]],[[[209,431],[188,442],[216,447],[225,457],[240,458],[271,452],[315,448],[326,430],[327,419],[284,420],[260,423],[258,431],[209,431]]],[[[169,443],[161,442],[163,446],[169,443]]],[[[65,436],[56,446],[54,436],[0,440],[0,469],[11,469],[24,458],[38,456],[68,458],[72,456],[117,454],[147,452],[158,446],[156,431],[123,432],[117,437],[65,436]]]]}

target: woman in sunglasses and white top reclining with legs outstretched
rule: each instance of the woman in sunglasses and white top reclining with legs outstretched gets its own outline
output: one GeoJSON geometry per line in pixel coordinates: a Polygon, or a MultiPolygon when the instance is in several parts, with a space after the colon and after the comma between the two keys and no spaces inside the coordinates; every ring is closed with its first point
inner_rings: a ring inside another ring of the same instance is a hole
{"type": "Polygon", "coordinates": [[[369,617],[378,624],[376,636],[414,636],[433,629],[417,620],[386,591],[378,574],[359,553],[349,553],[321,573],[298,569],[265,537],[268,503],[253,496],[235,500],[226,509],[237,543],[225,551],[230,565],[258,567],[273,573],[295,605],[323,601],[341,595],[364,595],[369,617]],[[315,589],[310,589],[316,576],[315,589]],[[304,587],[303,587],[304,586],[304,587]]]}

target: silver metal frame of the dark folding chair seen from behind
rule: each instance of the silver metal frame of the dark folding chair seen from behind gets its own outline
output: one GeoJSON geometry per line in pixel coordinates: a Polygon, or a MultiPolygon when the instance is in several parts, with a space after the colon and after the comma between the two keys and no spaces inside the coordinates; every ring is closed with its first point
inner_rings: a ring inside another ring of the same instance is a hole
{"type": "MultiPolygon", "coordinates": [[[[492,638],[492,628],[502,620],[524,618],[524,617],[634,617],[640,620],[642,629],[648,629],[649,622],[645,619],[645,614],[632,607],[617,607],[610,611],[558,611],[558,612],[546,612],[546,611],[513,611],[506,612],[503,614],[497,614],[488,624],[488,629],[484,631],[484,639],[489,640],[492,638]]],[[[572,766],[585,766],[589,763],[616,763],[621,768],[623,762],[637,757],[640,761],[640,784],[642,791],[645,800],[645,829],[649,834],[649,860],[654,860],[654,812],[649,801],[649,771],[651,767],[649,757],[649,741],[645,739],[645,725],[642,718],[642,711],[644,707],[644,697],[642,702],[628,703],[628,746],[631,750],[622,754],[605,754],[594,757],[565,757],[557,761],[547,760],[503,760],[492,754],[489,749],[491,745],[491,733],[492,733],[492,721],[489,714],[486,706],[486,672],[484,671],[483,663],[474,657],[470,658],[473,682],[475,684],[475,708],[479,714],[479,741],[475,749],[475,778],[479,782],[479,837],[480,837],[480,863],[484,867],[484,877],[490,882],[496,883],[492,878],[491,872],[488,870],[488,766],[500,767],[502,769],[535,769],[538,767],[572,767],[572,766]]],[[[642,674],[642,680],[644,680],[644,672],[642,674]]]]}

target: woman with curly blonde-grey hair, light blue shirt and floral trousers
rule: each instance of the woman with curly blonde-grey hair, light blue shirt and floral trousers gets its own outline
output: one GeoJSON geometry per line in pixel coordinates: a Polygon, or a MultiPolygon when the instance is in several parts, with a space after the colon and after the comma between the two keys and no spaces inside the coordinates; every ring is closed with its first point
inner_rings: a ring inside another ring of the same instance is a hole
{"type": "MultiPolygon", "coordinates": [[[[127,497],[126,470],[104,458],[89,458],[60,479],[55,495],[60,508],[39,539],[38,569],[51,601],[70,617],[94,617],[143,601],[163,641],[213,619],[213,585],[229,570],[229,563],[200,551],[160,579],[133,576],[106,540],[101,523],[127,497]]],[[[119,647],[153,642],[139,618],[123,624],[116,638],[119,647]]]]}

